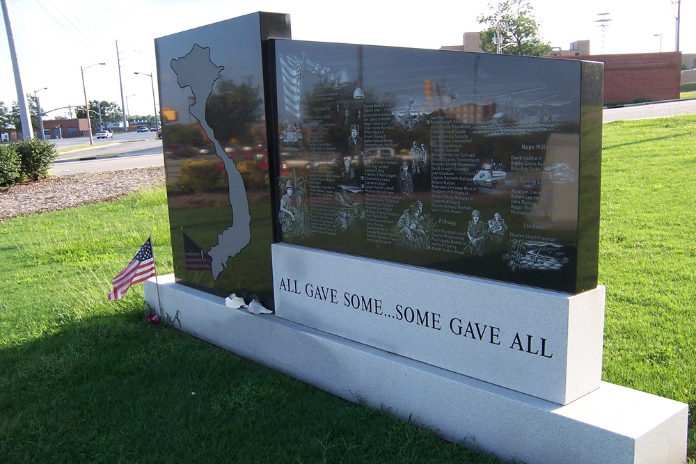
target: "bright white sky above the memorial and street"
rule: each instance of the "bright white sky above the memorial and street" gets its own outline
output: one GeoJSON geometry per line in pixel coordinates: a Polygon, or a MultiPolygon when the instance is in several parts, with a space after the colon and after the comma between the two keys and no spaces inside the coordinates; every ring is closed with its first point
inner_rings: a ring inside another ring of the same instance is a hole
{"type": "MultiPolygon", "coordinates": [[[[255,11],[290,14],[292,38],[296,40],[439,49],[461,45],[465,32],[480,31],[477,16],[487,11],[489,3],[498,3],[352,0],[342,6],[327,6],[331,3],[256,0],[252,7],[251,2],[235,0],[0,1],[8,7],[24,93],[33,95],[38,90],[42,110],[51,111],[48,119],[68,116],[68,109],[62,107],[84,105],[80,67],[84,68],[89,100],[120,106],[119,61],[127,113],[152,115],[152,81],[134,72],[152,74],[159,105],[155,38],[255,11]]],[[[576,40],[590,40],[592,54],[674,51],[676,2],[648,0],[638,6],[635,0],[585,0],[561,7],[557,0],[530,0],[542,40],[562,49],[569,49],[576,40]],[[611,21],[597,22],[601,18],[611,21]],[[606,27],[602,29],[599,24],[606,27]]],[[[696,53],[695,2],[681,0],[679,49],[685,54],[696,53]]],[[[3,22],[0,102],[9,108],[16,100],[3,22]]]]}

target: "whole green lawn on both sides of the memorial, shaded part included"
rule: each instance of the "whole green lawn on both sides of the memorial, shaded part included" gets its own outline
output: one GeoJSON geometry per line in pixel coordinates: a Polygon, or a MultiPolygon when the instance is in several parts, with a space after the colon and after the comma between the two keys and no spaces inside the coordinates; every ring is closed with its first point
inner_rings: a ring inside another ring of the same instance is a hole
{"type": "MultiPolygon", "coordinates": [[[[694,408],[696,116],[603,131],[603,380],[694,408]]],[[[0,463],[497,462],[106,301],[168,227],[164,189],[0,223],[0,463]]]]}

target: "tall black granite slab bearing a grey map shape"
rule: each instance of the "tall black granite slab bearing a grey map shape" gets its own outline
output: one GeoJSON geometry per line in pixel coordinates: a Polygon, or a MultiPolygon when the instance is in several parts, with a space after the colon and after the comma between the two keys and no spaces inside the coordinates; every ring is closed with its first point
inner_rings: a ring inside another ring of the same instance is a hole
{"type": "Polygon", "coordinates": [[[272,304],[274,214],[262,42],[290,17],[253,13],[155,40],[174,274],[272,304]]]}

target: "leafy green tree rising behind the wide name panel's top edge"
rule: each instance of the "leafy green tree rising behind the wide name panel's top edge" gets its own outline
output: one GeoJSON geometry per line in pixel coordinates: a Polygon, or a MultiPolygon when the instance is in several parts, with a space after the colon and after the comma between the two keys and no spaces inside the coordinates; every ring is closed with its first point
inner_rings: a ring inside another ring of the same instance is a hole
{"type": "Polygon", "coordinates": [[[539,37],[534,8],[526,0],[504,0],[488,5],[488,12],[477,17],[487,29],[481,31],[481,49],[488,53],[544,56],[551,45],[539,37]]]}

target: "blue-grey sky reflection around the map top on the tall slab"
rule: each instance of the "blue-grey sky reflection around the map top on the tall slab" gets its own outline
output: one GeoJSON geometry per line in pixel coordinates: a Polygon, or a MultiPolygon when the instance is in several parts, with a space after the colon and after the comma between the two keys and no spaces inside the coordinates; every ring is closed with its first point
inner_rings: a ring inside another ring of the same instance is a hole
{"type": "Polygon", "coordinates": [[[258,17],[248,17],[247,22],[244,22],[244,17],[235,18],[155,40],[159,93],[166,96],[161,100],[161,104],[178,111],[180,122],[193,122],[189,121],[188,115],[189,105],[193,103],[192,94],[189,88],[180,88],[170,63],[172,59],[188,54],[193,44],[208,47],[212,63],[225,67],[220,73],[219,81],[233,80],[240,83],[251,77],[253,86],[262,87],[258,17]],[[232,21],[234,27],[226,24],[232,21]]]}

